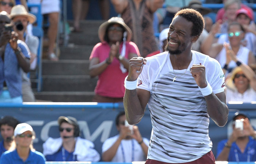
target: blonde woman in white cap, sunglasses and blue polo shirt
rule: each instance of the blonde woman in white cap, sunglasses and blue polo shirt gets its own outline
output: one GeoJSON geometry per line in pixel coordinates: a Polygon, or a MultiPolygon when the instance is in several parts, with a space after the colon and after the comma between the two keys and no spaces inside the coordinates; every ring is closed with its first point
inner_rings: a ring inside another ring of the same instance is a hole
{"type": "Polygon", "coordinates": [[[14,137],[16,149],[4,152],[0,164],[45,164],[44,155],[33,148],[35,132],[29,124],[18,124],[14,137]]]}

